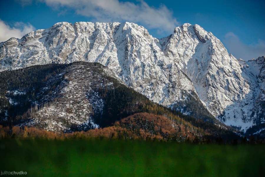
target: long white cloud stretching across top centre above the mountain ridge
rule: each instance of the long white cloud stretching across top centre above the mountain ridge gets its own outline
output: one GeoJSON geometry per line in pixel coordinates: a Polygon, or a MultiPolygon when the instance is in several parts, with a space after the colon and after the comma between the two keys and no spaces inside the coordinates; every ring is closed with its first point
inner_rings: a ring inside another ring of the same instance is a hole
{"type": "Polygon", "coordinates": [[[39,0],[58,9],[69,7],[77,14],[92,17],[97,22],[134,22],[149,29],[173,32],[178,26],[173,13],[165,6],[151,7],[145,1],[139,3],[120,2],[119,0],[39,0]]]}

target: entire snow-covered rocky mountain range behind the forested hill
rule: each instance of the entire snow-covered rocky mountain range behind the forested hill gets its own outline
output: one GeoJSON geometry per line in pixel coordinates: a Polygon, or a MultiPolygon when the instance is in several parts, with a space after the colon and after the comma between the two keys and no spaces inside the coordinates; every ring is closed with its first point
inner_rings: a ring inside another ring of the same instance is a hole
{"type": "Polygon", "coordinates": [[[134,23],[60,22],[0,43],[0,71],[74,61],[101,63],[150,100],[185,114],[200,117],[206,107],[242,129],[264,123],[264,57],[237,60],[197,24],[157,39],[134,23]]]}

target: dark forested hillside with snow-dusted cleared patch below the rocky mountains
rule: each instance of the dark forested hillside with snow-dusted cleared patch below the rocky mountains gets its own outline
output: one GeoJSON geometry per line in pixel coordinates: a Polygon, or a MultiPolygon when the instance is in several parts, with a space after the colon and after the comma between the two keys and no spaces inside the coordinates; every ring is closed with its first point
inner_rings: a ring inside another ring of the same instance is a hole
{"type": "Polygon", "coordinates": [[[194,118],[153,103],[122,84],[99,63],[49,64],[3,71],[0,87],[3,126],[87,131],[110,127],[127,116],[147,112],[169,119],[169,126],[185,127],[200,137],[236,136],[231,127],[217,120],[194,118]]]}

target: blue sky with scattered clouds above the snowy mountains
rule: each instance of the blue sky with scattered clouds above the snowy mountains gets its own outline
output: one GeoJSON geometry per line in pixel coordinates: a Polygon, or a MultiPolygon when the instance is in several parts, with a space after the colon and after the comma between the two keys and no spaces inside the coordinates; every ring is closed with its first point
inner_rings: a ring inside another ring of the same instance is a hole
{"type": "Polygon", "coordinates": [[[154,37],[171,34],[183,23],[211,31],[237,58],[265,55],[265,1],[0,1],[0,42],[22,37],[57,22],[135,22],[154,37]]]}

